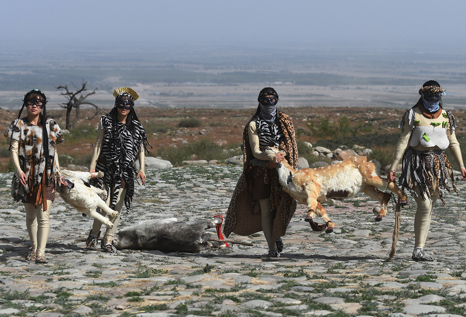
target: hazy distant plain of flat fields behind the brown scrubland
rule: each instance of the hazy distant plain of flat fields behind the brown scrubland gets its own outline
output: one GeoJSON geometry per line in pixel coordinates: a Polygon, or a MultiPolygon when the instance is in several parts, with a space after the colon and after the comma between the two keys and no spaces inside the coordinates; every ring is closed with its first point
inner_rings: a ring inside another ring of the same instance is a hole
{"type": "Polygon", "coordinates": [[[99,47],[0,48],[0,106],[18,108],[25,92],[43,90],[58,107],[55,87],[98,88],[89,101],[113,104],[117,87],[133,87],[137,106],[244,108],[273,86],[280,106],[406,108],[422,83],[436,79],[450,108],[466,106],[463,52],[283,47],[147,46],[110,51],[99,47]],[[31,60],[31,56],[33,59],[31,60]]]}

